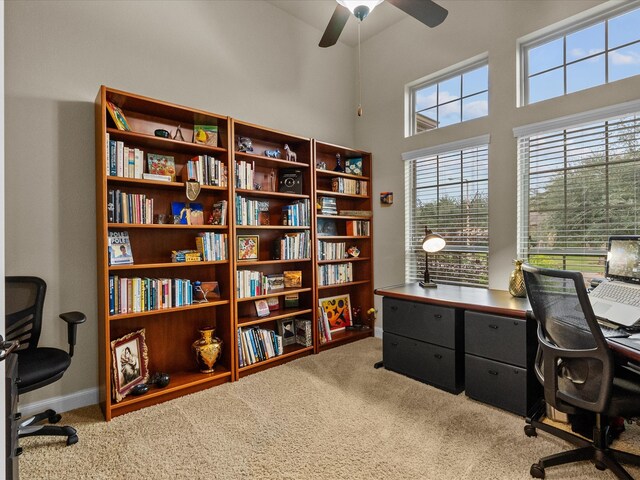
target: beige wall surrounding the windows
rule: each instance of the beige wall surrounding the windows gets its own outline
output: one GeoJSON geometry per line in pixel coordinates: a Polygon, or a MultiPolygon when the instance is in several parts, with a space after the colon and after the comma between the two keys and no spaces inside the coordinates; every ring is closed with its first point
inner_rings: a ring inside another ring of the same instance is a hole
{"type": "MultiPolygon", "coordinates": [[[[374,152],[373,192],[394,192],[375,207],[375,285],[404,281],[403,152],[483,134],[489,146],[489,285],[506,289],[516,257],[516,140],[512,129],[637,99],[640,77],[528,107],[516,108],[516,41],[602,1],[442,0],[445,22],[425,28],[400,21],[363,46],[365,115],[356,121],[358,146],[374,152]],[[476,55],[489,54],[489,117],[404,138],[404,86],[476,55]]],[[[378,304],[380,306],[380,304],[378,304]]]]}

